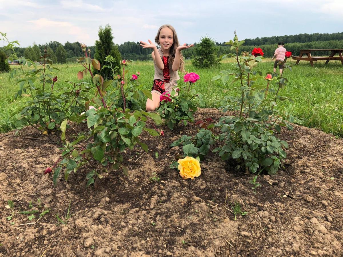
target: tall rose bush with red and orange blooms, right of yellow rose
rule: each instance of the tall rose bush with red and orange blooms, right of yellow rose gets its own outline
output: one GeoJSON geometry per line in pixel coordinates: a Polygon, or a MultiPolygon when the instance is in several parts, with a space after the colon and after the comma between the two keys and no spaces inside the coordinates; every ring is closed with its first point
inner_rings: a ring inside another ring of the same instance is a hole
{"type": "MultiPolygon", "coordinates": [[[[279,90],[286,86],[288,80],[283,77],[284,72],[280,77],[270,73],[263,77],[261,72],[255,71],[263,57],[254,57],[249,52],[240,53],[239,47],[243,43],[244,40],[238,41],[235,33],[234,40],[226,43],[234,51],[231,56],[237,62],[235,70],[221,71],[220,75],[212,78],[221,78],[226,84],[229,76],[234,76],[233,82],[238,82],[240,90],[240,96],[226,96],[217,102],[221,103],[220,109],[224,112],[233,110],[238,114],[222,117],[215,125],[221,129],[219,139],[224,141],[224,145],[214,151],[219,152],[223,160],[236,160],[237,167],[246,172],[255,174],[264,171],[275,174],[280,168],[281,160],[286,158],[283,148],[287,148],[287,143],[277,138],[275,131],[281,132],[281,126],[292,129],[284,119],[285,113],[276,108],[277,101],[287,99],[279,96],[279,90]],[[267,85],[260,83],[258,79],[261,77],[267,85]],[[274,87],[271,87],[272,84],[274,87]]],[[[289,56],[286,53],[285,59],[289,56]]],[[[284,69],[291,70],[286,61],[284,64],[284,69]]],[[[290,122],[294,121],[291,116],[287,118],[290,122]]]]}

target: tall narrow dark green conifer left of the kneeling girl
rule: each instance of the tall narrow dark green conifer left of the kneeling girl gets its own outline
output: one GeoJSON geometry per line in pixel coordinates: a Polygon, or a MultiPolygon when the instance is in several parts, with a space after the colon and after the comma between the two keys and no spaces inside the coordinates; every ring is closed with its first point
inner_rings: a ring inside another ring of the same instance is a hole
{"type": "Polygon", "coordinates": [[[92,72],[94,75],[98,74],[106,80],[113,79],[113,71],[109,68],[109,65],[111,64],[106,60],[106,57],[113,57],[115,61],[115,74],[119,74],[121,56],[118,50],[118,46],[115,45],[113,42],[114,37],[112,35],[111,26],[108,24],[105,26],[105,28],[100,26],[98,36],[99,39],[95,41],[94,58],[100,62],[102,69],[93,69],[92,72]]]}

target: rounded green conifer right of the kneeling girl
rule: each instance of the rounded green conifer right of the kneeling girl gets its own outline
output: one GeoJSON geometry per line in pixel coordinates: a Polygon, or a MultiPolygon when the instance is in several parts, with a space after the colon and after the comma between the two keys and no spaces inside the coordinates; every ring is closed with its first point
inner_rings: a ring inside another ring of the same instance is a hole
{"type": "Polygon", "coordinates": [[[201,38],[194,51],[196,56],[193,58],[192,64],[197,68],[209,68],[220,62],[217,57],[215,42],[208,36],[201,38]]]}

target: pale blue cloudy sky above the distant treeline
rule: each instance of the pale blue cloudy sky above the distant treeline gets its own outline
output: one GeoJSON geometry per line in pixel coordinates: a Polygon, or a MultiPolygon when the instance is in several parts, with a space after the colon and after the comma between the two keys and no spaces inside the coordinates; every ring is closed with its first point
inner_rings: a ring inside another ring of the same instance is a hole
{"type": "MultiPolygon", "coordinates": [[[[50,40],[91,46],[99,25],[110,24],[114,42],[153,40],[163,24],[180,44],[205,35],[217,41],[343,31],[343,0],[88,1],[0,0],[0,31],[22,47],[50,40]]],[[[0,42],[2,46],[2,42],[0,42]]]]}

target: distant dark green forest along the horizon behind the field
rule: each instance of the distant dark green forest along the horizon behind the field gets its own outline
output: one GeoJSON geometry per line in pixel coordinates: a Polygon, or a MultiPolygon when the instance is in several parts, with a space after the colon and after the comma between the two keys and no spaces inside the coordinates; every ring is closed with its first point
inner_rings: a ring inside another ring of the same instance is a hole
{"type": "MultiPolygon", "coordinates": [[[[201,40],[201,39],[200,39],[201,40]]],[[[313,33],[313,34],[297,34],[297,35],[284,35],[272,36],[250,39],[244,39],[245,43],[241,47],[242,51],[251,51],[254,47],[262,48],[264,57],[272,57],[277,43],[283,41],[287,51],[291,51],[293,55],[298,55],[301,49],[330,49],[337,48],[343,49],[343,32],[338,33],[313,33]]],[[[197,42],[194,42],[197,45],[197,42]]],[[[230,53],[230,48],[225,45],[225,42],[215,42],[218,57],[230,53]]],[[[91,49],[94,54],[94,46],[87,47],[91,49]]],[[[0,48],[1,49],[1,48],[0,48]]],[[[51,59],[55,63],[76,62],[76,58],[82,56],[82,49],[79,42],[67,41],[62,45],[58,41],[50,41],[44,45],[36,45],[29,47],[17,47],[15,51],[17,56],[25,57],[33,61],[39,61],[44,49],[47,49],[51,59]]],[[[151,49],[142,48],[139,42],[124,42],[118,45],[119,52],[122,59],[132,60],[151,60],[151,49]]],[[[182,54],[186,59],[194,56],[195,47],[185,49],[182,54]]],[[[7,53],[8,55],[10,53],[7,53]]],[[[314,52],[313,55],[329,54],[325,52],[314,52]]]]}

